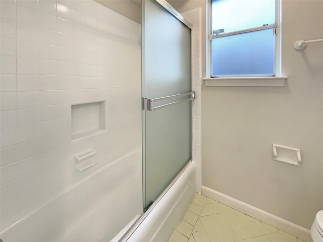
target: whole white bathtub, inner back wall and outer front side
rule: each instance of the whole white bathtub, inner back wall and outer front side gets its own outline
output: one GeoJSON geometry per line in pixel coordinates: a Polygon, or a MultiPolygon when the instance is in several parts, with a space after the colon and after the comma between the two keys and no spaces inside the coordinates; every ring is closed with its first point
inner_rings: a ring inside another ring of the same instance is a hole
{"type": "Polygon", "coordinates": [[[118,241],[137,221],[123,241],[168,241],[196,193],[195,163],[142,217],[141,166],[141,150],[136,150],[94,171],[3,231],[2,240],[118,241]]]}

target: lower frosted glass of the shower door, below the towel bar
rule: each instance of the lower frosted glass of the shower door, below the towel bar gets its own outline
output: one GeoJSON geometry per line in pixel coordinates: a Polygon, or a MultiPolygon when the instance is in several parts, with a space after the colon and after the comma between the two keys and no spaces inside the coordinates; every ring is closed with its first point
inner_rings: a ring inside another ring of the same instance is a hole
{"type": "Polygon", "coordinates": [[[146,113],[146,205],[191,159],[191,102],[146,113]]]}

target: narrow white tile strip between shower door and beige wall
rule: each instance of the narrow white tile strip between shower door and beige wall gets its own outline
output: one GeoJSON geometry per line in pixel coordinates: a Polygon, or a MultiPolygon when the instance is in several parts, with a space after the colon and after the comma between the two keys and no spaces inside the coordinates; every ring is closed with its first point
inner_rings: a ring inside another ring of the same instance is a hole
{"type": "Polygon", "coordinates": [[[182,13],[182,15],[193,25],[192,31],[192,86],[195,91],[192,110],[192,159],[197,164],[197,192],[201,192],[202,169],[201,169],[201,8],[182,13]]]}

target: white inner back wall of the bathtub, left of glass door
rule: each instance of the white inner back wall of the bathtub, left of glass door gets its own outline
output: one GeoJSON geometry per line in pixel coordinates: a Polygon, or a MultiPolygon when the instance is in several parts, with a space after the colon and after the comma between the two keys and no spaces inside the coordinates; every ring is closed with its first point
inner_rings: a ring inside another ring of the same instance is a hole
{"type": "Polygon", "coordinates": [[[135,150],[92,172],[3,231],[2,240],[110,241],[142,213],[141,160],[135,150]]]}

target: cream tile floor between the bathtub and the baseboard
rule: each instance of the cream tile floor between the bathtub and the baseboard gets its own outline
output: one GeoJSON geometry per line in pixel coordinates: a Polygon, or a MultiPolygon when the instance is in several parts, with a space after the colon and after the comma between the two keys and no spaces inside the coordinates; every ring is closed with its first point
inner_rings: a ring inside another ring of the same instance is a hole
{"type": "Polygon", "coordinates": [[[305,242],[196,194],[170,242],[305,242]]]}

